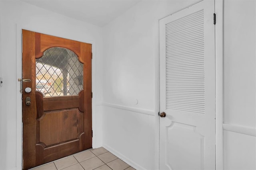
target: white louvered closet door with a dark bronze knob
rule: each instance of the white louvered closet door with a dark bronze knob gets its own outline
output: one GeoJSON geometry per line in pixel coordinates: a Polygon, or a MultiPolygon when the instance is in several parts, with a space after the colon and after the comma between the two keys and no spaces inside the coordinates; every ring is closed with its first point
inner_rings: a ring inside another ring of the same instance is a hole
{"type": "Polygon", "coordinates": [[[215,169],[214,0],[160,20],[160,170],[215,169]]]}

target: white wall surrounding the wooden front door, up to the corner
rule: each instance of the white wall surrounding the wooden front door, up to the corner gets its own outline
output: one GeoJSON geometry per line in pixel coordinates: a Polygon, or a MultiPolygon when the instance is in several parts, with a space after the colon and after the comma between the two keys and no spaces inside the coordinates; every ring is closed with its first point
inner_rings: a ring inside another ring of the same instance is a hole
{"type": "Polygon", "coordinates": [[[21,29],[92,43],[93,147],[101,147],[102,28],[20,1],[0,1],[0,16],[0,76],[4,79],[0,88],[0,169],[21,169],[22,107],[17,81],[22,77],[21,29]]]}

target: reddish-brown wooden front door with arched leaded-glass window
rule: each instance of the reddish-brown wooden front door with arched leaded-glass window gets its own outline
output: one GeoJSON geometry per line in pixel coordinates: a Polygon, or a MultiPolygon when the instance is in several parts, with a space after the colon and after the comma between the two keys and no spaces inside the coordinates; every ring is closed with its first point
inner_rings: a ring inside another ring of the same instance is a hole
{"type": "Polygon", "coordinates": [[[28,169],[92,147],[92,45],[27,30],[22,37],[28,169]]]}

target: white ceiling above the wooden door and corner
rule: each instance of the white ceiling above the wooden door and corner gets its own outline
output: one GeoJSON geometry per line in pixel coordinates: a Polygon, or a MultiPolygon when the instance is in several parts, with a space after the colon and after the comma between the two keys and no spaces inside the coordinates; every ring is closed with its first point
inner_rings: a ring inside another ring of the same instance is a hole
{"type": "Polygon", "coordinates": [[[141,0],[21,0],[29,4],[100,27],[141,0]]]}

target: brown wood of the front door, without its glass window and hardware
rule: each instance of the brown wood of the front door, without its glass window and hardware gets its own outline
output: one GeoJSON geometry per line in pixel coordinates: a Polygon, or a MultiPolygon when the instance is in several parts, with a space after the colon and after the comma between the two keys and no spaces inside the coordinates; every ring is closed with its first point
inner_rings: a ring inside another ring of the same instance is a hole
{"type": "Polygon", "coordinates": [[[92,47],[32,31],[22,33],[22,75],[31,80],[23,82],[22,93],[23,169],[28,169],[92,147],[92,47]],[[83,63],[83,90],[77,96],[44,97],[36,91],[36,59],[52,47],[73,51],[83,63]],[[32,91],[24,92],[26,87],[32,91]],[[25,104],[26,97],[31,98],[30,106],[25,104]]]}

